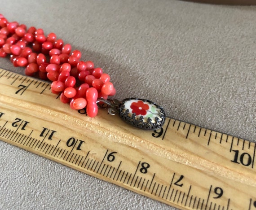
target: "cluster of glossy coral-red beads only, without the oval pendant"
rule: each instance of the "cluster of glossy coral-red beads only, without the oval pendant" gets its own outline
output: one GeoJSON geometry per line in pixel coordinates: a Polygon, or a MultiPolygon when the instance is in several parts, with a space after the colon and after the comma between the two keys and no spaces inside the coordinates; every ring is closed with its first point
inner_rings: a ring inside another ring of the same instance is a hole
{"type": "Polygon", "coordinates": [[[97,99],[115,95],[110,76],[92,61],[80,61],[81,52],[64,44],[54,33],[8,22],[0,14],[0,57],[10,56],[13,66],[24,66],[25,74],[51,80],[52,92],[60,94],[72,109],[84,109],[89,117],[98,112],[97,99]]]}

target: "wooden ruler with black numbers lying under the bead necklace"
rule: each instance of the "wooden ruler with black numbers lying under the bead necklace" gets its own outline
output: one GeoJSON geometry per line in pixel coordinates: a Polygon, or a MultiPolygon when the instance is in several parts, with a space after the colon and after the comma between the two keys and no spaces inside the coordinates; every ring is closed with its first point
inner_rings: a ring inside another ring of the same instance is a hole
{"type": "Polygon", "coordinates": [[[256,143],[167,118],[141,131],[71,110],[50,84],[0,69],[0,139],[181,209],[256,210],[256,143]]]}

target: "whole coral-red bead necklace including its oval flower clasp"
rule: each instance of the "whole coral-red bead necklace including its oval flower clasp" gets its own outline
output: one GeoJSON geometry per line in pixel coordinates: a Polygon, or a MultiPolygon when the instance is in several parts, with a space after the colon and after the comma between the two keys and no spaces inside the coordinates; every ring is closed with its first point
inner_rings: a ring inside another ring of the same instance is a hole
{"type": "Polygon", "coordinates": [[[51,81],[51,91],[71,109],[86,109],[89,117],[95,117],[101,107],[98,104],[104,103],[110,114],[118,113],[135,127],[156,130],[163,126],[165,112],[152,101],[109,100],[116,92],[110,75],[95,68],[93,61],[81,61],[81,52],[72,52],[71,44],[64,44],[55,33],[45,35],[34,26],[27,29],[0,14],[0,57],[7,56],[13,66],[25,67],[26,75],[51,81]]]}

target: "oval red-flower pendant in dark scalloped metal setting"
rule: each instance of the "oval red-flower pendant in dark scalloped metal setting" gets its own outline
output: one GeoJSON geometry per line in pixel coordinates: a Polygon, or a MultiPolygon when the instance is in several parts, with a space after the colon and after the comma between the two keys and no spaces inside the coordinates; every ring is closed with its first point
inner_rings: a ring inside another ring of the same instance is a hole
{"type": "Polygon", "coordinates": [[[125,122],[145,130],[159,129],[165,121],[163,107],[146,99],[126,98],[120,102],[118,111],[125,122]]]}

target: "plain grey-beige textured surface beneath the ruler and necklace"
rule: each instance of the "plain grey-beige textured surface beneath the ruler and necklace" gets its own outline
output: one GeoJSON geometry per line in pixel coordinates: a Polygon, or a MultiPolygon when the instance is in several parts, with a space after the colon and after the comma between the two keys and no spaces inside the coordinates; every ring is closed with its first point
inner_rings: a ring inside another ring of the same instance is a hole
{"type": "MultiPolygon", "coordinates": [[[[255,6],[0,0],[0,13],[81,50],[111,75],[117,99],[147,98],[172,118],[255,140],[255,6]]],[[[3,58],[0,67],[23,71],[3,58]]],[[[169,208],[0,142],[0,209],[169,208]]]]}

